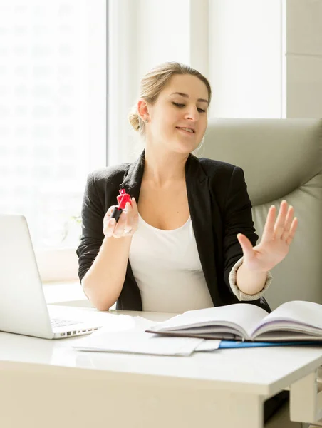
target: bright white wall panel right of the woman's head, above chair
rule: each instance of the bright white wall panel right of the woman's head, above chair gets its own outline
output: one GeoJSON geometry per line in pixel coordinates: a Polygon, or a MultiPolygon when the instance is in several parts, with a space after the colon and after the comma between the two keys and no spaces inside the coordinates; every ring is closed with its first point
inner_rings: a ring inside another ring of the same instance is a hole
{"type": "Polygon", "coordinates": [[[281,117],[280,0],[209,0],[211,116],[281,117]]]}

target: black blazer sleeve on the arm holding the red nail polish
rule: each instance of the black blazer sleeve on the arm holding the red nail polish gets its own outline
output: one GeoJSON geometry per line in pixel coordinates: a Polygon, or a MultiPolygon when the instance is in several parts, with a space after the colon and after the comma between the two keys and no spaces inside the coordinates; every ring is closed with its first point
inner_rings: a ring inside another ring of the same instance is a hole
{"type": "Polygon", "coordinates": [[[76,253],[78,255],[78,277],[80,281],[93,264],[102,245],[103,218],[105,210],[95,185],[95,175],[90,173],[85,185],[82,204],[82,236],[76,253]]]}

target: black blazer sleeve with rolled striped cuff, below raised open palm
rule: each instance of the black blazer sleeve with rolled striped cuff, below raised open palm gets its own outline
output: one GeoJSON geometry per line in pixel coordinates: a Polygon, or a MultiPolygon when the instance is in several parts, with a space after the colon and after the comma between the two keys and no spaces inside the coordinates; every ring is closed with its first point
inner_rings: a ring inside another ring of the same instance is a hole
{"type": "Polygon", "coordinates": [[[268,272],[264,288],[256,295],[246,295],[237,287],[237,269],[242,263],[243,252],[237,234],[243,233],[256,245],[259,238],[255,233],[251,215],[251,201],[247,192],[244,171],[235,166],[229,183],[224,210],[224,281],[239,300],[256,300],[269,287],[272,277],[268,272]]]}

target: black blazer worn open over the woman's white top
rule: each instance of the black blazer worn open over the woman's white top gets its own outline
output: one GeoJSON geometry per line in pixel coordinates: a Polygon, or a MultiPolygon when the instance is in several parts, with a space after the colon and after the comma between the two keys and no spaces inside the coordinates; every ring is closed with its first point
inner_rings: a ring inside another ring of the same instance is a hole
{"type": "MultiPolygon", "coordinates": [[[[83,233],[76,251],[80,280],[102,245],[103,217],[108,208],[117,203],[120,184],[135,200],[139,200],[144,165],[145,151],[134,163],[102,168],[88,175],[82,208],[83,233]]],[[[244,233],[253,245],[258,239],[243,170],[229,163],[196,158],[190,154],[185,173],[192,227],[212,302],[214,306],[237,303],[239,300],[232,293],[228,280],[233,265],[242,256],[237,233],[244,233]]],[[[264,297],[247,303],[270,312],[264,297]]],[[[116,307],[142,310],[140,290],[130,262],[116,307]]]]}

